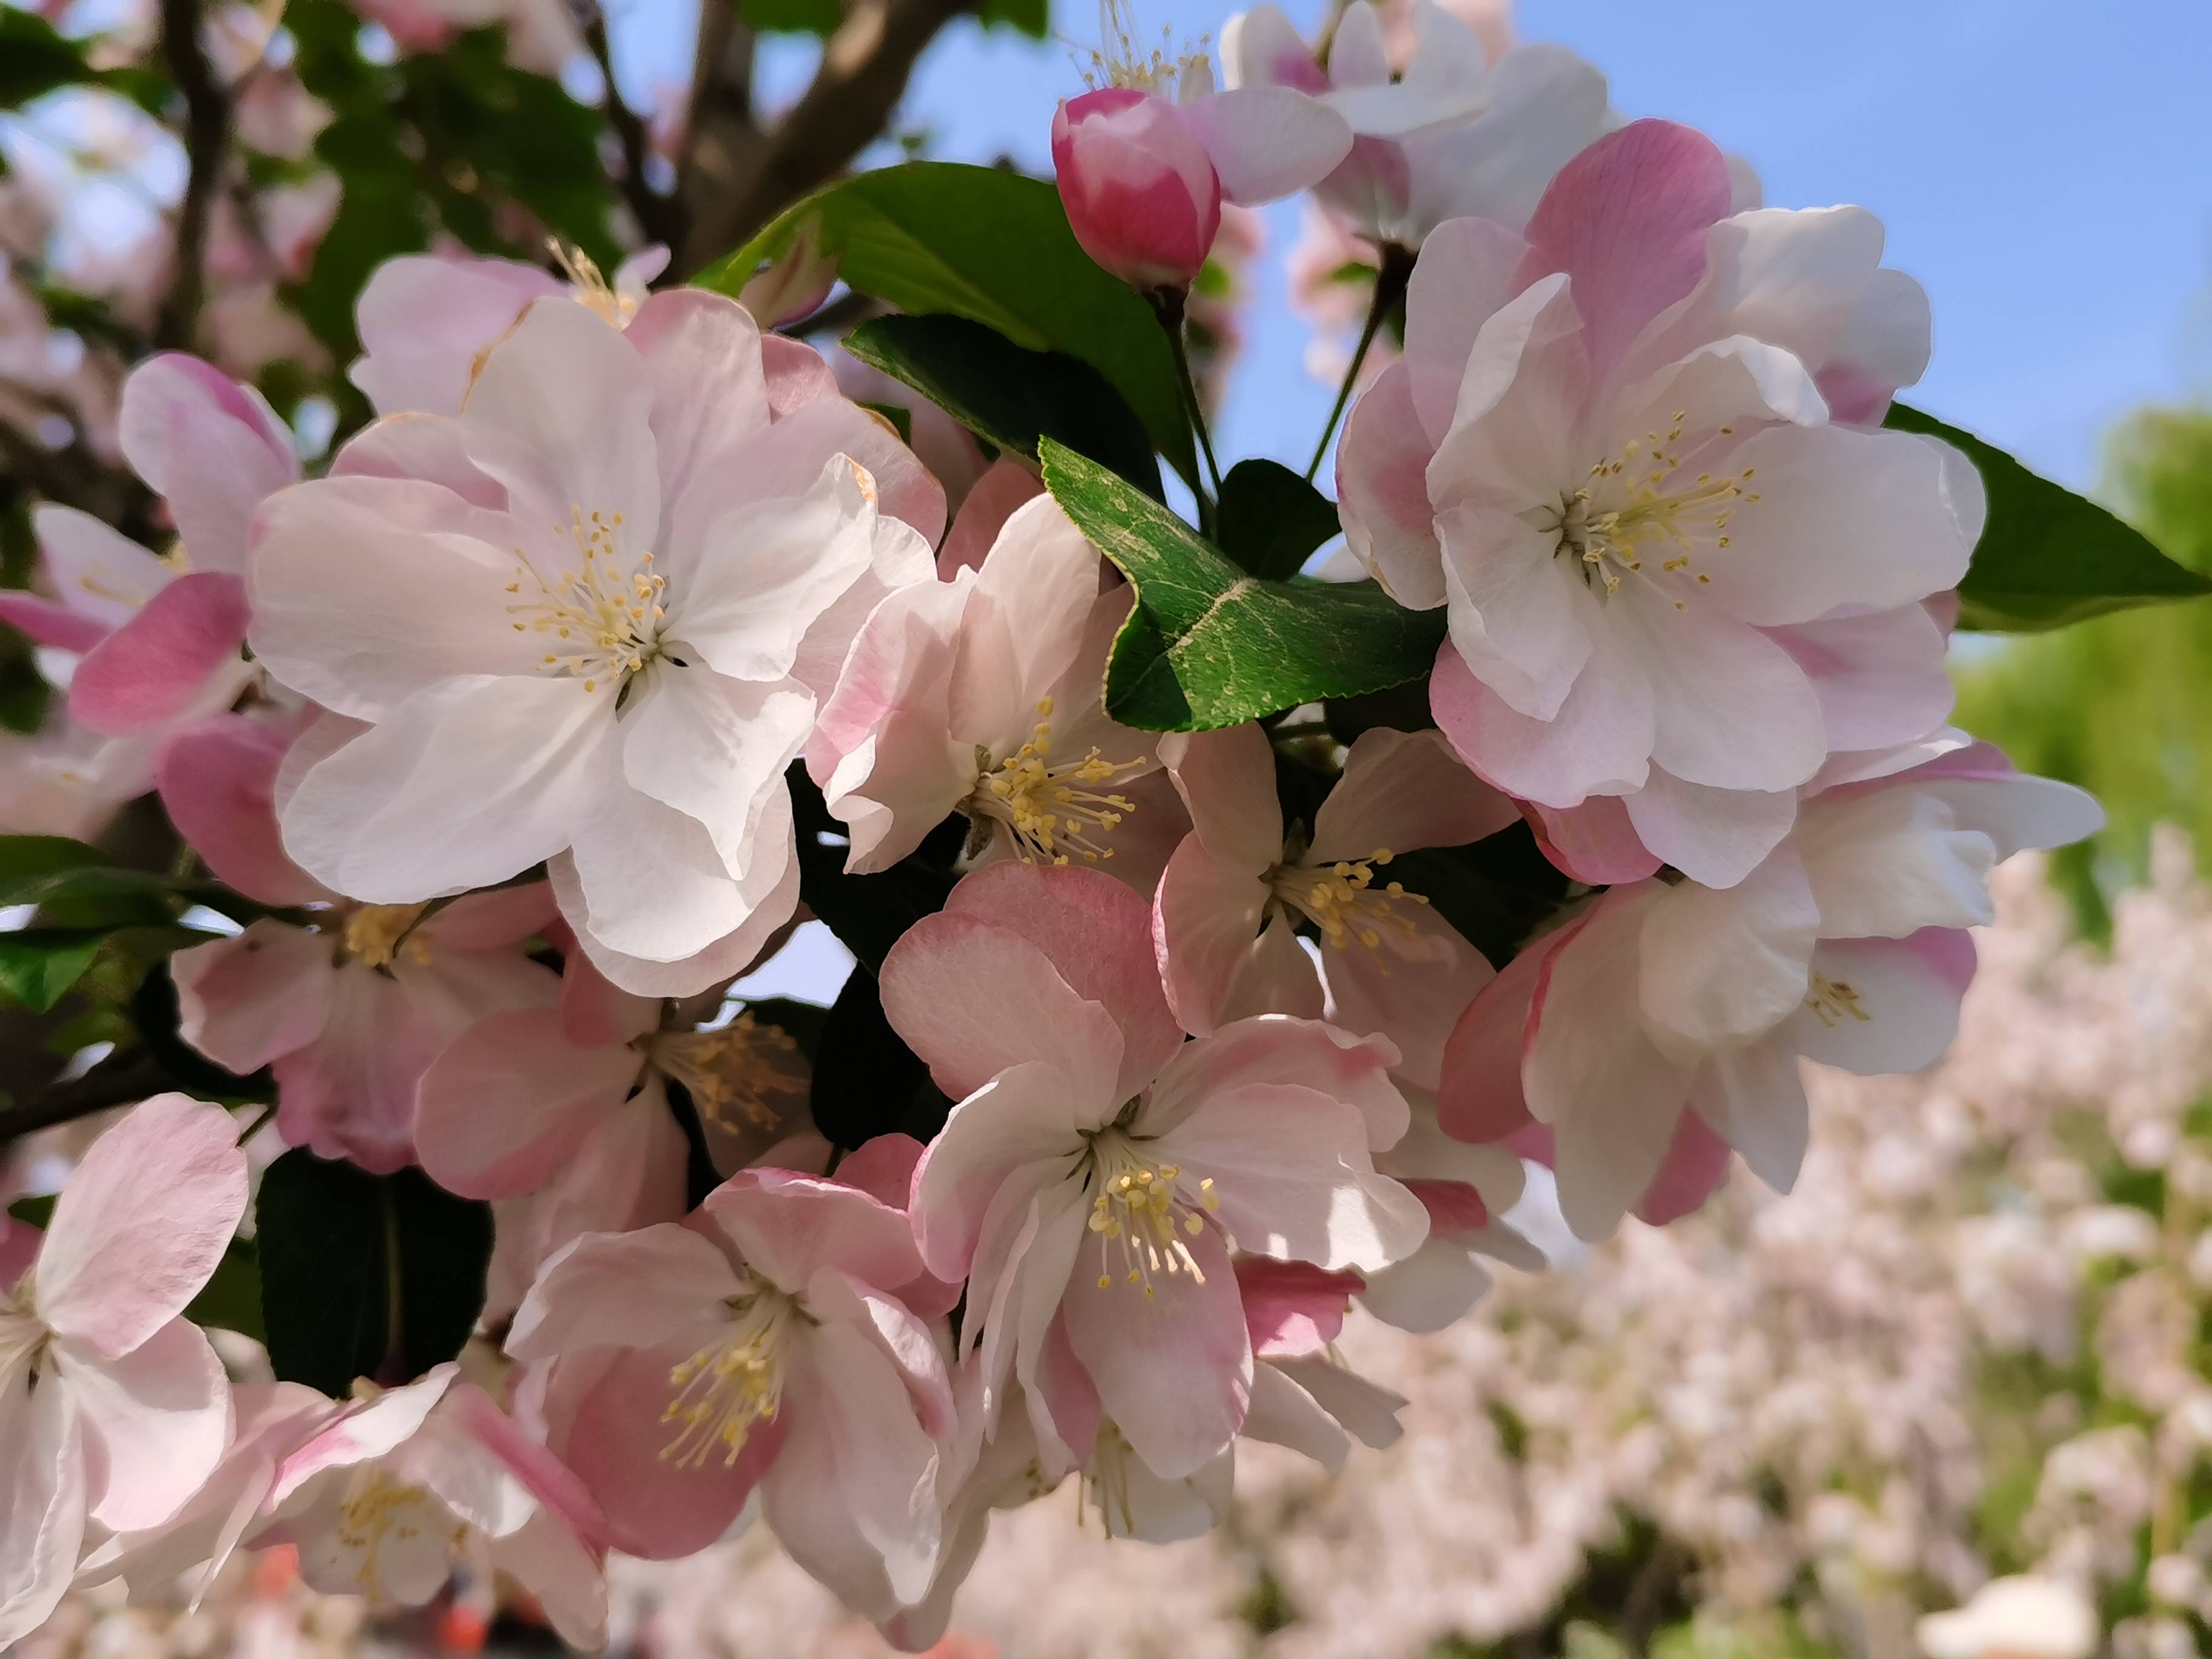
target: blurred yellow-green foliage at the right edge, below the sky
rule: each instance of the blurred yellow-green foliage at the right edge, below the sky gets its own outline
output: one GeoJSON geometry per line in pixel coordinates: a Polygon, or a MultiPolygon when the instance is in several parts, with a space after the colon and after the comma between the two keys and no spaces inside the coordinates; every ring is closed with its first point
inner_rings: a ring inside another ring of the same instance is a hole
{"type": "MultiPolygon", "coordinates": [[[[2212,575],[2212,409],[2146,409],[2112,434],[2104,495],[2168,555],[2212,575]]],[[[2161,821],[2212,852],[2212,606],[2097,617],[2013,639],[1958,670],[1958,723],[2026,772],[2104,801],[2097,838],[2055,856],[2081,927],[2139,883],[2161,821]]]]}

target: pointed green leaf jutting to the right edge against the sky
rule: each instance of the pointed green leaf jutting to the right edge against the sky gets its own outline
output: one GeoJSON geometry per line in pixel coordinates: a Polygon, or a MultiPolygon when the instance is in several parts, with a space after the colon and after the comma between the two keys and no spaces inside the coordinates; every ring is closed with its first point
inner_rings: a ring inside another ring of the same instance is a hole
{"type": "Polygon", "coordinates": [[[1958,445],[1982,471],[1989,524],[1958,586],[1960,628],[2039,633],[2212,593],[2212,580],[2174,564],[2141,531],[1973,434],[1902,403],[1889,405],[1882,425],[1958,445]]]}

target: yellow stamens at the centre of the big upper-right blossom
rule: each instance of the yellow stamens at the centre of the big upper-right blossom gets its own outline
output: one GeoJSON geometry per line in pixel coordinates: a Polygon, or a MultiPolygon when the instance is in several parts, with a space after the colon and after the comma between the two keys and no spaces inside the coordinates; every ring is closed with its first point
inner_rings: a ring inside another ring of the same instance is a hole
{"type": "MultiPolygon", "coordinates": [[[[1548,509],[1548,524],[1537,524],[1557,531],[1557,553],[1579,560],[1582,580],[1604,586],[1606,597],[1621,591],[1624,575],[1644,575],[1655,560],[1663,575],[1712,582],[1694,568],[1699,549],[1725,549],[1736,509],[1759,500],[1759,491],[1745,489],[1756,467],[1741,473],[1690,471],[1701,449],[1732,438],[1736,429],[1721,427],[1683,451],[1683,420],[1688,414],[1677,409],[1668,431],[1630,438],[1617,458],[1590,467],[1582,489],[1548,509]]],[[[1677,597],[1674,608],[1688,611],[1688,602],[1677,597]]]]}

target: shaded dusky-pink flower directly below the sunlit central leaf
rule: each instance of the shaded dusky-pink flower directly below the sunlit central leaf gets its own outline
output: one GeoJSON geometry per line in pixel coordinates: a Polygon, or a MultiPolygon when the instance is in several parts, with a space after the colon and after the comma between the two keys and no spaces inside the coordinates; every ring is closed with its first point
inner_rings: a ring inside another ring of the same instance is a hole
{"type": "Polygon", "coordinates": [[[1285,834],[1259,726],[1166,737],[1159,752],[1190,807],[1190,834],[1152,898],[1159,973],[1183,1031],[1206,1035],[1250,1013],[1318,1018],[1323,973],[1347,1029],[1378,1031],[1383,1009],[1413,998],[1451,1004],[1440,1015],[1449,1031],[1489,962],[1387,869],[1400,852],[1520,823],[1506,796],[1438,732],[1378,728],[1352,743],[1314,823],[1285,834]],[[1321,962],[1301,949],[1301,925],[1318,931],[1321,962]]]}

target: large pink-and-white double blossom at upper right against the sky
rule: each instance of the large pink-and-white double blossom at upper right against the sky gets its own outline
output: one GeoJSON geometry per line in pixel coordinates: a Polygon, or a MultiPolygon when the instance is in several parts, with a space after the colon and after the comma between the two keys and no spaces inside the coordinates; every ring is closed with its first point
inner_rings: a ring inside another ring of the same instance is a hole
{"type": "Polygon", "coordinates": [[[1575,832],[1641,847],[1641,874],[1708,885],[1781,841],[1829,750],[1942,719],[1920,602],[1984,515],[1964,456],[1845,425],[1823,392],[1878,416],[1924,361],[1880,226],[1730,217],[1730,190],[1708,139],[1637,122],[1559,173],[1526,237],[1442,228],[1338,456],[1352,549],[1400,604],[1449,608],[1431,710],[1460,757],[1599,814],[1575,832]],[[1887,701],[1869,655],[1900,670],[1887,701]]]}

